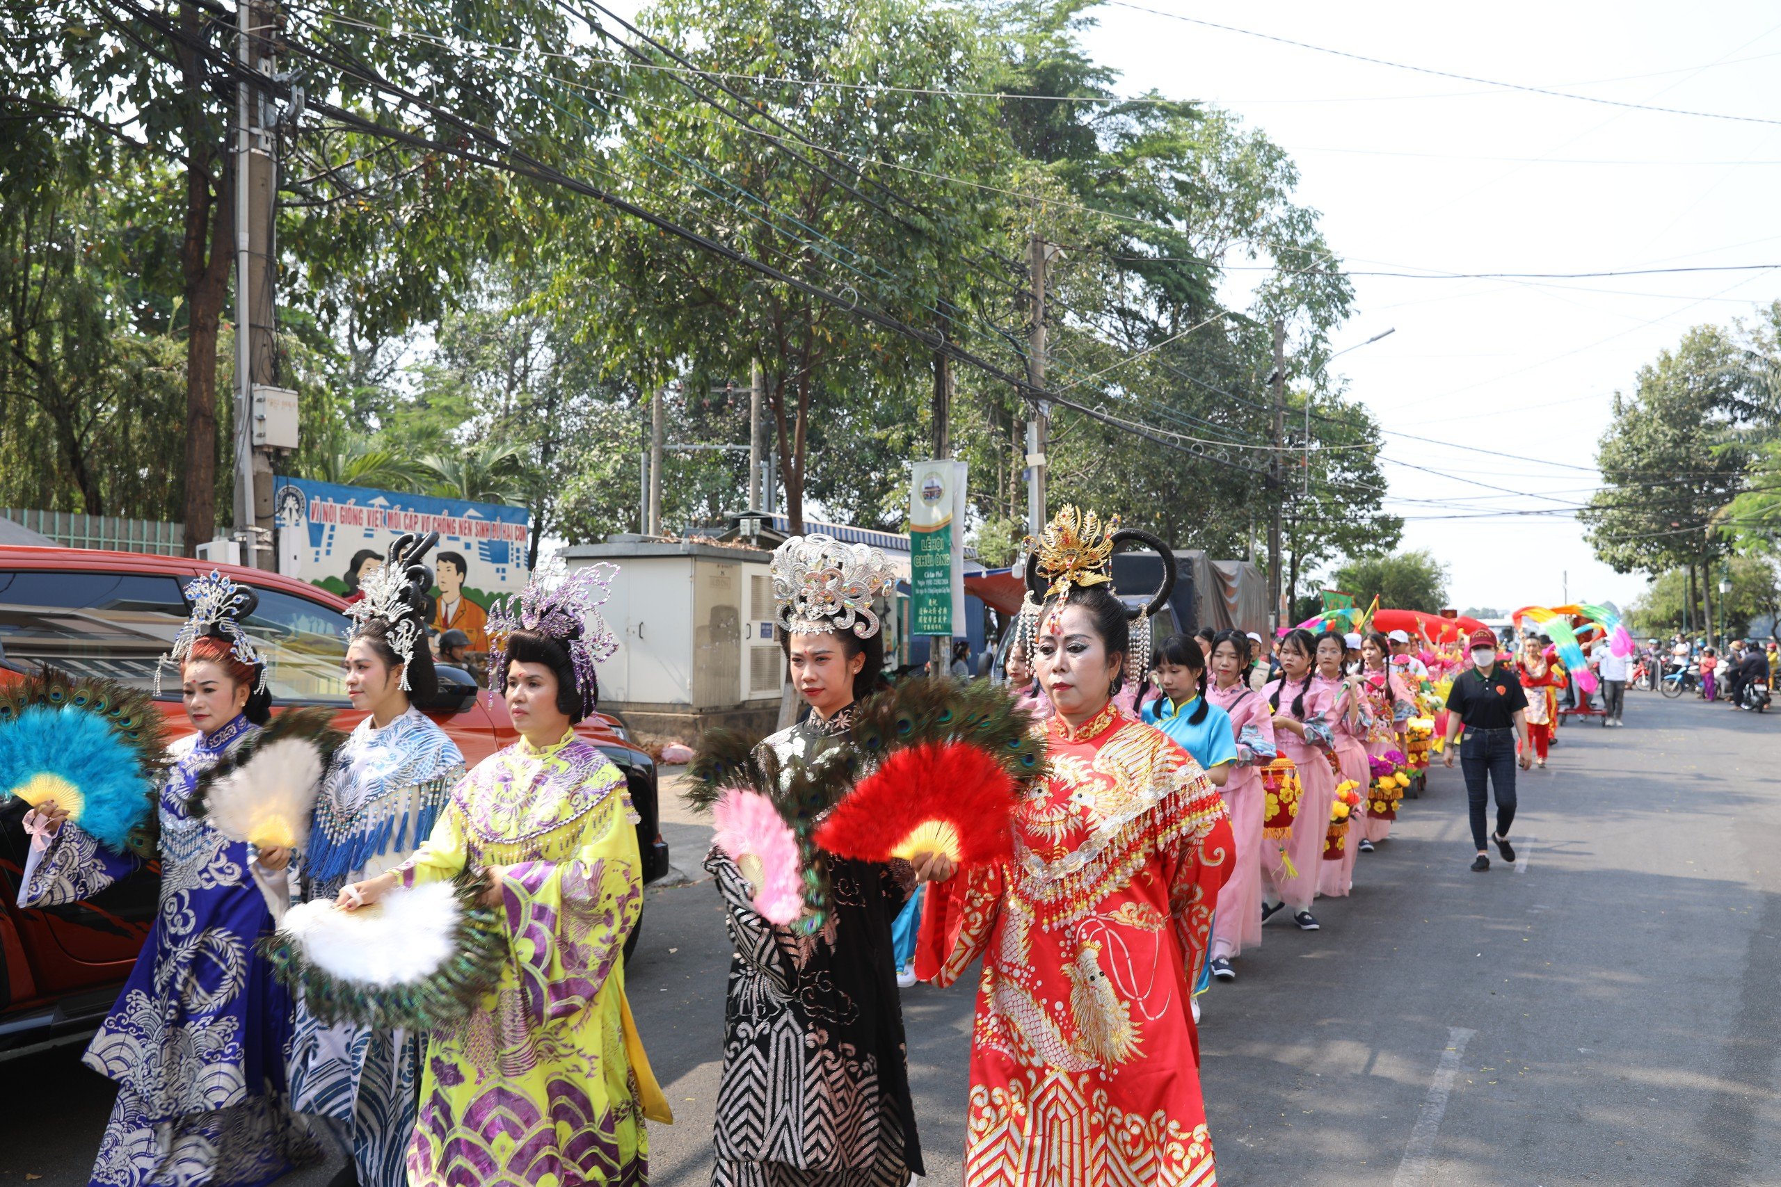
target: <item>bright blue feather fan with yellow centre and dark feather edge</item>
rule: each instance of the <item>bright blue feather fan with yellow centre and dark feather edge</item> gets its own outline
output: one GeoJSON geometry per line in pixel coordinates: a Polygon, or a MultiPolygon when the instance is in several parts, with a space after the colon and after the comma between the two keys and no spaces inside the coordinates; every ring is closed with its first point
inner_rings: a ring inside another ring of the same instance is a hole
{"type": "Polygon", "coordinates": [[[55,801],[112,852],[155,854],[167,735],[148,692],[45,669],[0,690],[0,787],[55,801]]]}

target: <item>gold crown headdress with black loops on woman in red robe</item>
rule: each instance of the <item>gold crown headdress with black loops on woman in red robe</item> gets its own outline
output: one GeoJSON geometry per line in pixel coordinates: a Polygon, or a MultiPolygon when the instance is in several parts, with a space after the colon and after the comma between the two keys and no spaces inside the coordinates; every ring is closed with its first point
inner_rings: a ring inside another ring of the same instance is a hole
{"type": "Polygon", "coordinates": [[[1113,550],[1126,541],[1152,548],[1163,561],[1161,587],[1143,605],[1126,610],[1126,618],[1133,621],[1131,646],[1126,650],[1126,680],[1138,683],[1151,669],[1151,616],[1163,609],[1175,589],[1175,553],[1149,532],[1122,529],[1118,516],[1110,516],[1102,525],[1094,511],[1083,513],[1067,505],[1058,509],[1037,539],[1026,537],[1026,600],[1015,623],[1019,632],[1015,646],[1024,648],[1028,657],[1033,655],[1038,614],[1045,602],[1058,598],[1056,609],[1061,610],[1070,587],[1085,589],[1111,582],[1113,550]]]}

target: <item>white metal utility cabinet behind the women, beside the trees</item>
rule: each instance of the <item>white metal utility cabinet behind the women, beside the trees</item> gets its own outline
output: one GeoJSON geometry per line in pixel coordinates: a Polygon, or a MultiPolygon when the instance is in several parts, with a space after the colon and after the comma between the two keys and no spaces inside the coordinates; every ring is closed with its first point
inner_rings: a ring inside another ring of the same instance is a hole
{"type": "Polygon", "coordinates": [[[570,569],[618,566],[602,607],[618,653],[600,664],[600,708],[664,740],[693,742],[711,726],[773,730],[785,664],[769,557],[744,545],[625,536],[572,546],[570,569]]]}

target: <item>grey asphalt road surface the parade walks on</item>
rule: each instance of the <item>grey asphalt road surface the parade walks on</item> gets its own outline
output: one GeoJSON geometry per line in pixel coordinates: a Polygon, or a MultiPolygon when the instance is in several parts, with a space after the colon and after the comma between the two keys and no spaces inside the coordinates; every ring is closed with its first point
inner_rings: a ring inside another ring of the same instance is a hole
{"type": "MultiPolygon", "coordinates": [[[[1519,861],[1473,874],[1435,765],[1323,931],[1268,925],[1200,1029],[1225,1187],[1781,1183],[1781,723],[1633,694],[1521,776],[1519,861]]],[[[709,835],[668,824],[702,877],[709,835]]],[[[728,943],[652,888],[629,989],[677,1112],[652,1182],[702,1185],[728,943]]],[[[974,982],[905,995],[928,1182],[960,1182],[974,982]]],[[[110,1107],[78,1048],[0,1064],[0,1187],[85,1182],[110,1107]]],[[[287,1183],[326,1182],[328,1169],[287,1183]]]]}

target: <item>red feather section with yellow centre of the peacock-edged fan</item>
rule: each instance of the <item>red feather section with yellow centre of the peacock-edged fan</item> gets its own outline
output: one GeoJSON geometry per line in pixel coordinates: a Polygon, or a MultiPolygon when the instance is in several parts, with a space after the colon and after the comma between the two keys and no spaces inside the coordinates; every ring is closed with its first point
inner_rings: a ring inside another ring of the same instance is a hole
{"type": "Polygon", "coordinates": [[[896,751],[860,779],[812,840],[839,858],[889,861],[944,852],[958,867],[1013,856],[1015,785],[996,758],[965,742],[896,751]]]}

